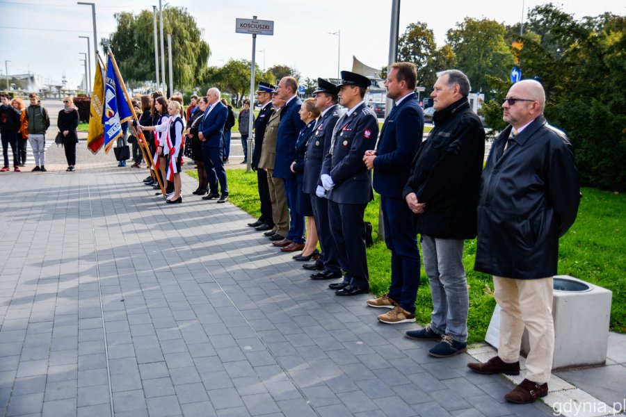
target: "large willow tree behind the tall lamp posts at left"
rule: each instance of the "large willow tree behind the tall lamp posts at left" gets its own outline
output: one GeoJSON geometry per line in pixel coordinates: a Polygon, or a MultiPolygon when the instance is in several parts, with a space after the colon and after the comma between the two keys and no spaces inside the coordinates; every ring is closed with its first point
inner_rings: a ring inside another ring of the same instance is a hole
{"type": "MultiPolygon", "coordinates": [[[[118,26],[111,33],[109,42],[125,81],[153,80],[156,74],[152,12],[142,10],[138,15],[116,13],[115,19],[118,26]]],[[[203,74],[210,55],[209,44],[202,40],[202,32],[195,18],[186,8],[166,7],[163,9],[163,32],[172,33],[174,85],[180,89],[195,87],[200,81],[198,75],[203,74]]],[[[164,51],[168,67],[167,40],[164,51]]]]}

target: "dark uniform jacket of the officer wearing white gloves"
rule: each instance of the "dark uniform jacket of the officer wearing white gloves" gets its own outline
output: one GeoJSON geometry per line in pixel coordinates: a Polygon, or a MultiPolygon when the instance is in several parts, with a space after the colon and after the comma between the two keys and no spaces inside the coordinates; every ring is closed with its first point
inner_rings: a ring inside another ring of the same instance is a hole
{"type": "Polygon", "coordinates": [[[363,163],[363,155],[376,145],[376,114],[361,103],[351,115],[346,113],[337,121],[334,131],[334,143],[321,170],[321,174],[330,175],[335,183],[327,197],[338,204],[367,204],[374,199],[374,193],[371,173],[363,163]]]}

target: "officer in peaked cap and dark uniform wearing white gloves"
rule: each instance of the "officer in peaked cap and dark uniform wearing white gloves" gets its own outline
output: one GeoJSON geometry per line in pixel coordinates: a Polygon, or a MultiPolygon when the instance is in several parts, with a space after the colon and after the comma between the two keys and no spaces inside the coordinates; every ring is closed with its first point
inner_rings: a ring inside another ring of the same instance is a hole
{"type": "Polygon", "coordinates": [[[363,155],[374,149],[378,120],[363,97],[371,82],[366,76],[342,71],[339,99],[348,112],[333,129],[329,153],[324,157],[316,195],[328,198],[328,218],[340,265],[346,265],[344,281],[330,284],[337,295],[357,295],[369,291],[365,224],[367,203],[374,199],[371,174],[363,155]],[[343,257],[343,259],[342,259],[343,257]]]}

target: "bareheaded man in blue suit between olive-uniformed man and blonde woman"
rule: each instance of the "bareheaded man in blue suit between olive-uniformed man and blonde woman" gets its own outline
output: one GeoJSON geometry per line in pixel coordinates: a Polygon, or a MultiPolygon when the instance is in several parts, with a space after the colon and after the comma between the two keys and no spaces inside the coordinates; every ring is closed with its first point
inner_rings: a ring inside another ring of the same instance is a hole
{"type": "Polygon", "coordinates": [[[302,101],[296,95],[297,91],[298,81],[292,76],[284,76],[278,83],[277,95],[285,104],[280,113],[273,176],[284,182],[284,194],[289,206],[289,232],[283,240],[278,240],[273,245],[282,247],[283,252],[296,252],[304,248],[304,216],[296,210],[298,181],[296,174],[291,172],[291,163],[296,159],[296,140],[300,130],[306,126],[300,120],[302,101]]]}

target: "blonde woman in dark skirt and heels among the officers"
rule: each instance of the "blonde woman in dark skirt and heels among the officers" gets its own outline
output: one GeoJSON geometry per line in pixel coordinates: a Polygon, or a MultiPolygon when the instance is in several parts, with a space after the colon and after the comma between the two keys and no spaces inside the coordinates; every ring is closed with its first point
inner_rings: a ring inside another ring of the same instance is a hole
{"type": "Polygon", "coordinates": [[[319,110],[315,106],[314,99],[306,99],[300,108],[300,120],[307,125],[303,127],[296,140],[296,161],[291,163],[291,172],[296,173],[296,181],[298,182],[298,195],[296,196],[296,211],[307,218],[307,240],[302,253],[294,256],[296,261],[310,261],[311,258],[317,259],[319,251],[317,250],[317,229],[315,228],[315,219],[313,218],[313,208],[311,206],[311,196],[305,194],[302,190],[304,179],[304,165],[307,152],[307,144],[313,135],[315,120],[319,117],[319,110]]]}

